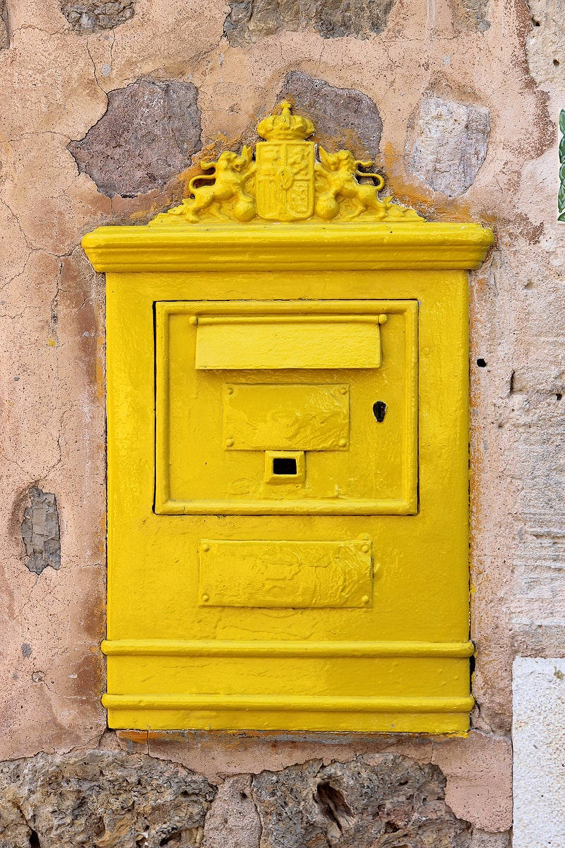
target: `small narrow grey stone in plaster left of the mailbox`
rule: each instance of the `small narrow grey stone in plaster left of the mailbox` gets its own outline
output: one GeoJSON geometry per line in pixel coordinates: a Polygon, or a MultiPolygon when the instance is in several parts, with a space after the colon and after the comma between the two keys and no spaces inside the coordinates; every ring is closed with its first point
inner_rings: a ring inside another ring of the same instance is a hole
{"type": "Polygon", "coordinates": [[[30,488],[30,505],[25,508],[21,522],[21,538],[25,544],[26,568],[41,574],[51,566],[61,566],[61,540],[58,525],[57,499],[54,494],[30,488]]]}

